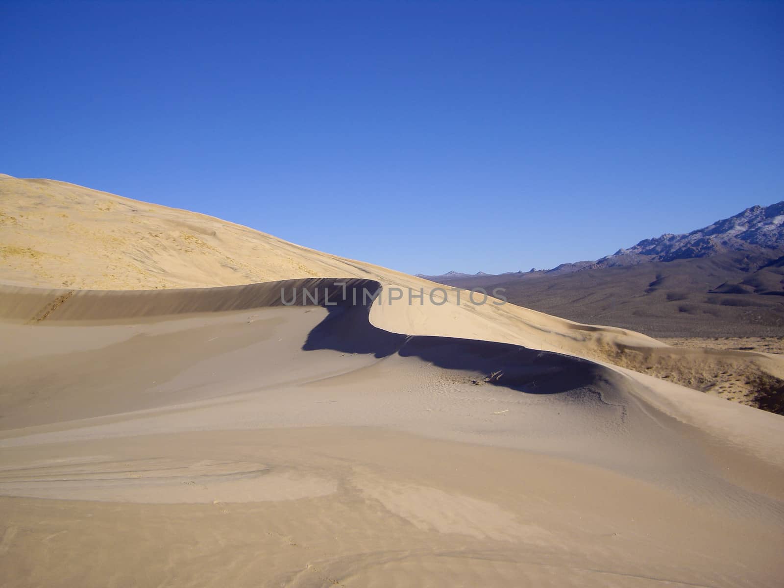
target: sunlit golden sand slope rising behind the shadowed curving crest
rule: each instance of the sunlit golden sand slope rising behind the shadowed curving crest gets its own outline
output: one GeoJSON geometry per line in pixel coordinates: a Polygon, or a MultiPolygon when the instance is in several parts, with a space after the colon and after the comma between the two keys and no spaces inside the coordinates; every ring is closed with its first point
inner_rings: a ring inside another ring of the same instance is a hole
{"type": "Polygon", "coordinates": [[[676,349],[640,333],[579,325],[494,299],[475,304],[468,292],[444,292],[434,282],[212,216],[70,183],[0,175],[0,283],[53,289],[52,304],[80,289],[201,288],[327,276],[379,281],[393,297],[392,289],[400,289],[400,300],[372,308],[374,324],[390,331],[572,354],[701,390],[711,383],[709,392],[729,390],[752,405],[760,394],[784,389],[779,356],[676,349]]]}

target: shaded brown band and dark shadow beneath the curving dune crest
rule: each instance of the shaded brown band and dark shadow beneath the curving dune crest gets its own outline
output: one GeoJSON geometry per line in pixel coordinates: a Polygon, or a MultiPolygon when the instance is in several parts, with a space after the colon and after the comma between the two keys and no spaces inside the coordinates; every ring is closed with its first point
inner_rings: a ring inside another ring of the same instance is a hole
{"type": "MultiPolygon", "coordinates": [[[[187,321],[188,318],[237,316],[241,311],[263,311],[281,308],[295,310],[303,307],[318,307],[325,311],[318,324],[310,325],[307,337],[301,345],[302,351],[331,350],[341,354],[369,355],[382,360],[392,355],[398,358],[416,358],[429,365],[445,370],[468,372],[469,381],[474,386],[493,385],[532,394],[559,394],[568,390],[594,387],[619,379],[611,369],[593,361],[575,358],[564,354],[530,350],[511,343],[497,343],[479,339],[462,339],[445,336],[416,336],[390,332],[372,324],[370,314],[376,304],[373,297],[380,296],[382,285],[372,280],[343,278],[310,278],[300,280],[275,281],[262,284],[227,286],[214,289],[176,289],[151,291],[51,291],[16,286],[0,285],[0,320],[5,322],[9,341],[13,334],[24,333],[31,343],[45,339],[53,345],[50,353],[67,351],[68,337],[73,336],[89,341],[95,334],[94,327],[103,326],[107,330],[123,326],[133,328],[144,323],[166,323],[167,321],[187,321]],[[365,299],[365,303],[362,300],[365,299]],[[31,330],[31,327],[35,327],[31,330]],[[92,328],[92,330],[91,330],[92,328]],[[9,330],[10,329],[10,330],[9,330]],[[15,330],[14,330],[15,329],[15,330]],[[41,329],[44,329],[43,331],[41,329]]],[[[310,312],[310,310],[307,310],[310,312]]],[[[254,314],[254,317],[259,315],[254,314]]],[[[282,316],[282,315],[281,315],[282,316]]],[[[288,320],[287,315],[287,320],[288,320]]],[[[319,316],[318,314],[312,315],[319,316]]],[[[309,323],[314,321],[311,318],[309,323]]],[[[252,321],[249,321],[249,324],[252,321]]],[[[235,333],[236,334],[236,333],[235,333]]],[[[241,337],[241,344],[252,343],[254,337],[263,339],[266,332],[249,332],[241,337]]],[[[293,337],[296,339],[296,335],[293,337]]],[[[281,339],[282,340],[282,339],[281,339]]],[[[100,345],[100,337],[98,338],[100,345]]],[[[172,342],[174,343],[173,339],[172,342]]],[[[165,343],[164,343],[165,344],[165,343]]],[[[24,347],[24,345],[23,345],[24,347]]],[[[124,350],[133,355],[134,365],[160,363],[151,357],[149,351],[124,350]]],[[[201,355],[204,358],[212,353],[199,350],[198,343],[188,347],[191,363],[201,355]]],[[[9,361],[14,352],[6,350],[5,365],[9,372],[6,390],[16,386],[20,390],[35,389],[35,382],[41,385],[42,372],[46,371],[45,362],[34,358],[41,347],[31,350],[31,361],[26,368],[9,361]],[[12,376],[13,374],[13,376],[12,376]]],[[[112,354],[113,355],[113,354],[112,354]]],[[[85,365],[71,381],[78,387],[80,379],[95,379],[96,392],[101,386],[111,387],[107,374],[90,378],[88,365],[112,365],[112,358],[100,357],[100,350],[90,349],[84,357],[75,361],[85,365]]],[[[68,362],[74,361],[73,357],[68,362]]],[[[60,388],[63,372],[72,371],[73,365],[58,362],[58,376],[43,376],[43,379],[57,379],[60,388]]],[[[174,365],[176,365],[176,361],[174,365]]],[[[267,358],[258,358],[260,365],[271,363],[267,358]]],[[[267,366],[273,368],[274,366],[267,366]]],[[[113,368],[117,368],[116,364],[113,368]]],[[[172,373],[173,373],[172,369],[172,373]]],[[[66,376],[67,379],[67,376],[66,376]]],[[[136,378],[125,376],[123,388],[133,386],[136,378]]],[[[252,378],[249,379],[252,382],[252,378]]],[[[252,384],[251,384],[252,385],[252,384]]],[[[609,390],[609,387],[604,387],[609,390]]],[[[62,392],[58,393],[63,401],[62,392]]],[[[162,401],[163,397],[158,397],[162,401]]],[[[91,405],[95,408],[95,405],[91,405]]],[[[126,409],[129,407],[125,407],[126,409]]],[[[8,415],[6,415],[7,417],[8,415]]]]}

